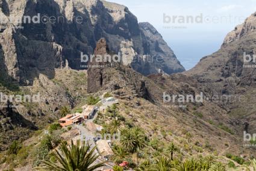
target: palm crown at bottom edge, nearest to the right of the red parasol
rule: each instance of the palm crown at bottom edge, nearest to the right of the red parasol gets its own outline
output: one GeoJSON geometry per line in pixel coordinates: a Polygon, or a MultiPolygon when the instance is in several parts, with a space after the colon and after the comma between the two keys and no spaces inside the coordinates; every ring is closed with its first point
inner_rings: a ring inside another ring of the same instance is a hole
{"type": "Polygon", "coordinates": [[[152,171],[170,171],[172,170],[172,161],[166,157],[158,157],[155,164],[152,164],[149,170],[152,171]]]}

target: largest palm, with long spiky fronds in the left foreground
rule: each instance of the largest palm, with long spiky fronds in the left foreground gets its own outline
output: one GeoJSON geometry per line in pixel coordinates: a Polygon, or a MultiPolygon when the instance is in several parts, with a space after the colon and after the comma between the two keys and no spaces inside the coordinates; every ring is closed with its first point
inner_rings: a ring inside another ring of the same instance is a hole
{"type": "Polygon", "coordinates": [[[64,157],[62,157],[62,155],[57,150],[52,152],[51,156],[56,158],[62,167],[58,166],[50,160],[42,160],[43,166],[35,167],[34,169],[51,171],[93,171],[99,167],[104,166],[104,163],[107,163],[107,161],[95,164],[94,166],[91,165],[102,153],[99,155],[93,154],[96,146],[90,152],[89,148],[90,146],[85,146],[85,141],[83,141],[81,148],[79,140],[77,141],[76,145],[73,145],[73,141],[71,141],[71,146],[69,146],[69,149],[66,145],[61,143],[60,150],[63,152],[64,157]]]}

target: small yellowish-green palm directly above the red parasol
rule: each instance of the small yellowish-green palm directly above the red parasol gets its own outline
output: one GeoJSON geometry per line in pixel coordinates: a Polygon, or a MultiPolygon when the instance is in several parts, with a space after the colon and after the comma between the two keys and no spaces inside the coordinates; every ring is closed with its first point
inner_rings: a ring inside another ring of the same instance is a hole
{"type": "Polygon", "coordinates": [[[117,146],[116,149],[113,149],[114,155],[111,156],[111,160],[116,164],[123,163],[123,161],[130,162],[131,154],[122,146],[117,146]]]}

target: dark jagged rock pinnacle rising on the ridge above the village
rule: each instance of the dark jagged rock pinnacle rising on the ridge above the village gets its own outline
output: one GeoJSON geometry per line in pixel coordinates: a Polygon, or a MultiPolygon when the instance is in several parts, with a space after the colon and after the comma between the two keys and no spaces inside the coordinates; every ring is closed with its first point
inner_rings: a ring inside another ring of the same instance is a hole
{"type": "Polygon", "coordinates": [[[100,39],[98,41],[94,55],[101,55],[102,61],[99,62],[96,61],[96,58],[93,58],[93,61],[89,62],[89,66],[92,67],[89,67],[87,71],[88,93],[96,93],[101,90],[113,92],[127,86],[136,88],[135,96],[145,95],[145,82],[143,76],[134,71],[130,65],[126,66],[120,62],[113,61],[114,52],[110,51],[105,39],[100,39]],[[110,55],[111,61],[104,61],[105,55],[110,55]]]}

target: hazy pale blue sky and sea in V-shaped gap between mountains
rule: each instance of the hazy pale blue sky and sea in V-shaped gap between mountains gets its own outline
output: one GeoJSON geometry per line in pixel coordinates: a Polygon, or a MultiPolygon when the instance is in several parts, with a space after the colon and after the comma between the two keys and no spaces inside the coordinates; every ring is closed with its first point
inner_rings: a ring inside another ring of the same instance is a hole
{"type": "Polygon", "coordinates": [[[256,0],[107,1],[128,7],[138,22],[151,23],[186,70],[194,67],[202,57],[219,50],[226,34],[256,11],[256,0]],[[173,16],[176,16],[174,21],[173,16]],[[187,16],[191,16],[189,21],[187,16]]]}

